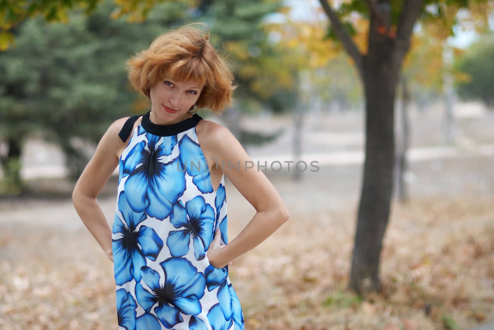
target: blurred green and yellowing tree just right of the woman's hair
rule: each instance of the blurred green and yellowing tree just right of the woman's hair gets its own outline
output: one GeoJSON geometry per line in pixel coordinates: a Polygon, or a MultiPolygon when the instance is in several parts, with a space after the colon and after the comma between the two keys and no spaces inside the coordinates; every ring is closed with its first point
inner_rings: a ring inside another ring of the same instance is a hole
{"type": "Polygon", "coordinates": [[[200,20],[210,22],[213,44],[228,54],[236,84],[235,102],[224,113],[227,126],[242,144],[273,140],[282,131],[262,134],[241,127],[241,115],[272,109],[290,109],[297,97],[296,66],[283,48],[268,39],[269,14],[283,11],[279,0],[208,1],[200,20]]]}

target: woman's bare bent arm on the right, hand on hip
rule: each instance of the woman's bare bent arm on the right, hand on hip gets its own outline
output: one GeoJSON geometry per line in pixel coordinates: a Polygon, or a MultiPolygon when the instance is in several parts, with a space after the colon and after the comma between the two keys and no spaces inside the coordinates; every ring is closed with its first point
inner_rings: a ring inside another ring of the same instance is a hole
{"type": "Polygon", "coordinates": [[[252,161],[242,145],[231,132],[214,125],[207,134],[206,146],[214,150],[217,166],[223,169],[228,179],[257,211],[242,232],[221,250],[211,251],[208,258],[214,267],[221,268],[230,261],[252,250],[273,234],[289,218],[287,207],[275,187],[263,172],[254,166],[246,169],[252,161]],[[229,166],[236,165],[239,168],[229,166]],[[212,259],[212,261],[211,261],[212,259]]]}

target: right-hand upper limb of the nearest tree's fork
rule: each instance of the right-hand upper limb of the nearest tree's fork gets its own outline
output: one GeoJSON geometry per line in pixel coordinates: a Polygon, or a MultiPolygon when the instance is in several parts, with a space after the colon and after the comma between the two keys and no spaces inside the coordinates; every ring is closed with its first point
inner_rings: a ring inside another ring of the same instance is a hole
{"type": "Polygon", "coordinates": [[[405,54],[410,48],[410,37],[412,36],[413,25],[422,13],[424,0],[405,0],[400,13],[400,23],[396,32],[396,47],[398,60],[401,63],[405,54]]]}

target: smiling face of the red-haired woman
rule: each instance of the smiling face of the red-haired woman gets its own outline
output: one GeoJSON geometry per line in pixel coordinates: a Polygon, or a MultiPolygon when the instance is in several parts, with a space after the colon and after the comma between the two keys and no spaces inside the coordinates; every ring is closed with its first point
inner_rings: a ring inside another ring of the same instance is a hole
{"type": "Polygon", "coordinates": [[[202,89],[203,86],[195,80],[163,78],[150,90],[151,110],[155,113],[155,118],[169,124],[187,118],[187,111],[196,103],[202,89]]]}

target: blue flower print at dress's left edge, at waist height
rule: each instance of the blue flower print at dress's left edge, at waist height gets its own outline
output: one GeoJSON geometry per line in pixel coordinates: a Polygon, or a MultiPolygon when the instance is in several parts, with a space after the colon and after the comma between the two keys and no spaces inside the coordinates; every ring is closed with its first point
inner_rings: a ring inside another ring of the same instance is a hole
{"type": "Polygon", "coordinates": [[[122,285],[132,281],[132,278],[136,282],[141,280],[140,269],[146,265],[146,257],[156,261],[163,248],[163,240],[153,228],[141,225],[137,230],[137,225],[146,220],[146,214],[130,209],[124,191],[120,193],[118,205],[124,219],[115,215],[113,233],[120,233],[121,237],[112,239],[112,249],[115,282],[122,285]]]}

